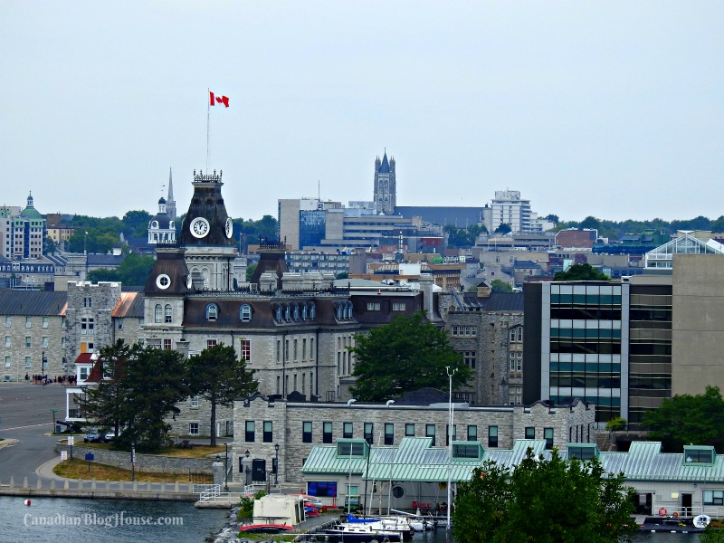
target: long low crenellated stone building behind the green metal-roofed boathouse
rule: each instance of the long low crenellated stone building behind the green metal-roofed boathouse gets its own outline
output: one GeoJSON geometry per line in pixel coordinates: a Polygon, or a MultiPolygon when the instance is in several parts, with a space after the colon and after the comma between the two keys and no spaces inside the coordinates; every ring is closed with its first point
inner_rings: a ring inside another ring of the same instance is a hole
{"type": "Polygon", "coordinates": [[[517,439],[545,439],[548,448],[595,442],[595,409],[571,405],[476,407],[453,405],[449,430],[448,395],[432,389],[385,404],[318,403],[254,394],[234,403],[233,481],[255,481],[274,472],[279,481],[301,482],[312,449],[338,440],[362,439],[369,445],[395,446],[405,437],[426,437],[432,446],[481,443],[486,449],[510,448],[517,439]],[[279,447],[276,447],[279,445],[279,447]],[[248,455],[247,455],[248,452],[248,455]]]}

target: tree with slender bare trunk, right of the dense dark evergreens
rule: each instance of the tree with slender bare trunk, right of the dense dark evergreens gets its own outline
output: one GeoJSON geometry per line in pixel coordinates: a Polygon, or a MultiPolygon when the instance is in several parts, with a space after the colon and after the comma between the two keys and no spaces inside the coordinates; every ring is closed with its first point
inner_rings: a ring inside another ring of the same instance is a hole
{"type": "Polygon", "coordinates": [[[211,405],[211,445],[216,444],[216,407],[233,405],[233,400],[257,389],[253,370],[246,369],[246,360],[223,343],[205,348],[186,362],[186,379],[192,395],[203,397],[211,405]]]}

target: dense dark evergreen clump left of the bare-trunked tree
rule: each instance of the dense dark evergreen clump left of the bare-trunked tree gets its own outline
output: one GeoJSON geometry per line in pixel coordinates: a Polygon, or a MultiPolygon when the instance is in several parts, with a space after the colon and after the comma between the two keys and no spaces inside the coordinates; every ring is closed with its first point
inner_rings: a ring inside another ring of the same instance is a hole
{"type": "Polygon", "coordinates": [[[119,339],[100,349],[97,386],[87,386],[81,401],[91,424],[113,428],[113,446],[157,452],[167,446],[166,418],[179,413],[176,404],[189,392],[184,386],[184,358],[169,349],[132,346],[119,339]]]}

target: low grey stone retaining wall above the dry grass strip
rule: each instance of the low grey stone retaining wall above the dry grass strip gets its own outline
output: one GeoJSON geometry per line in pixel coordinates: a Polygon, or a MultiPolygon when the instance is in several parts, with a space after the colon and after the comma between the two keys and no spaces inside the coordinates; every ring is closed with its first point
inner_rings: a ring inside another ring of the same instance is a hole
{"type": "MultiPolygon", "coordinates": [[[[70,445],[58,443],[55,450],[57,452],[67,451],[68,457],[71,457],[70,445]]],[[[88,452],[93,454],[93,462],[108,464],[123,470],[131,469],[130,452],[109,451],[84,445],[73,445],[72,447],[73,458],[82,460],[88,452]]],[[[214,459],[212,458],[178,458],[175,456],[136,453],[136,469],[138,472],[211,475],[213,463],[214,459]]]]}

